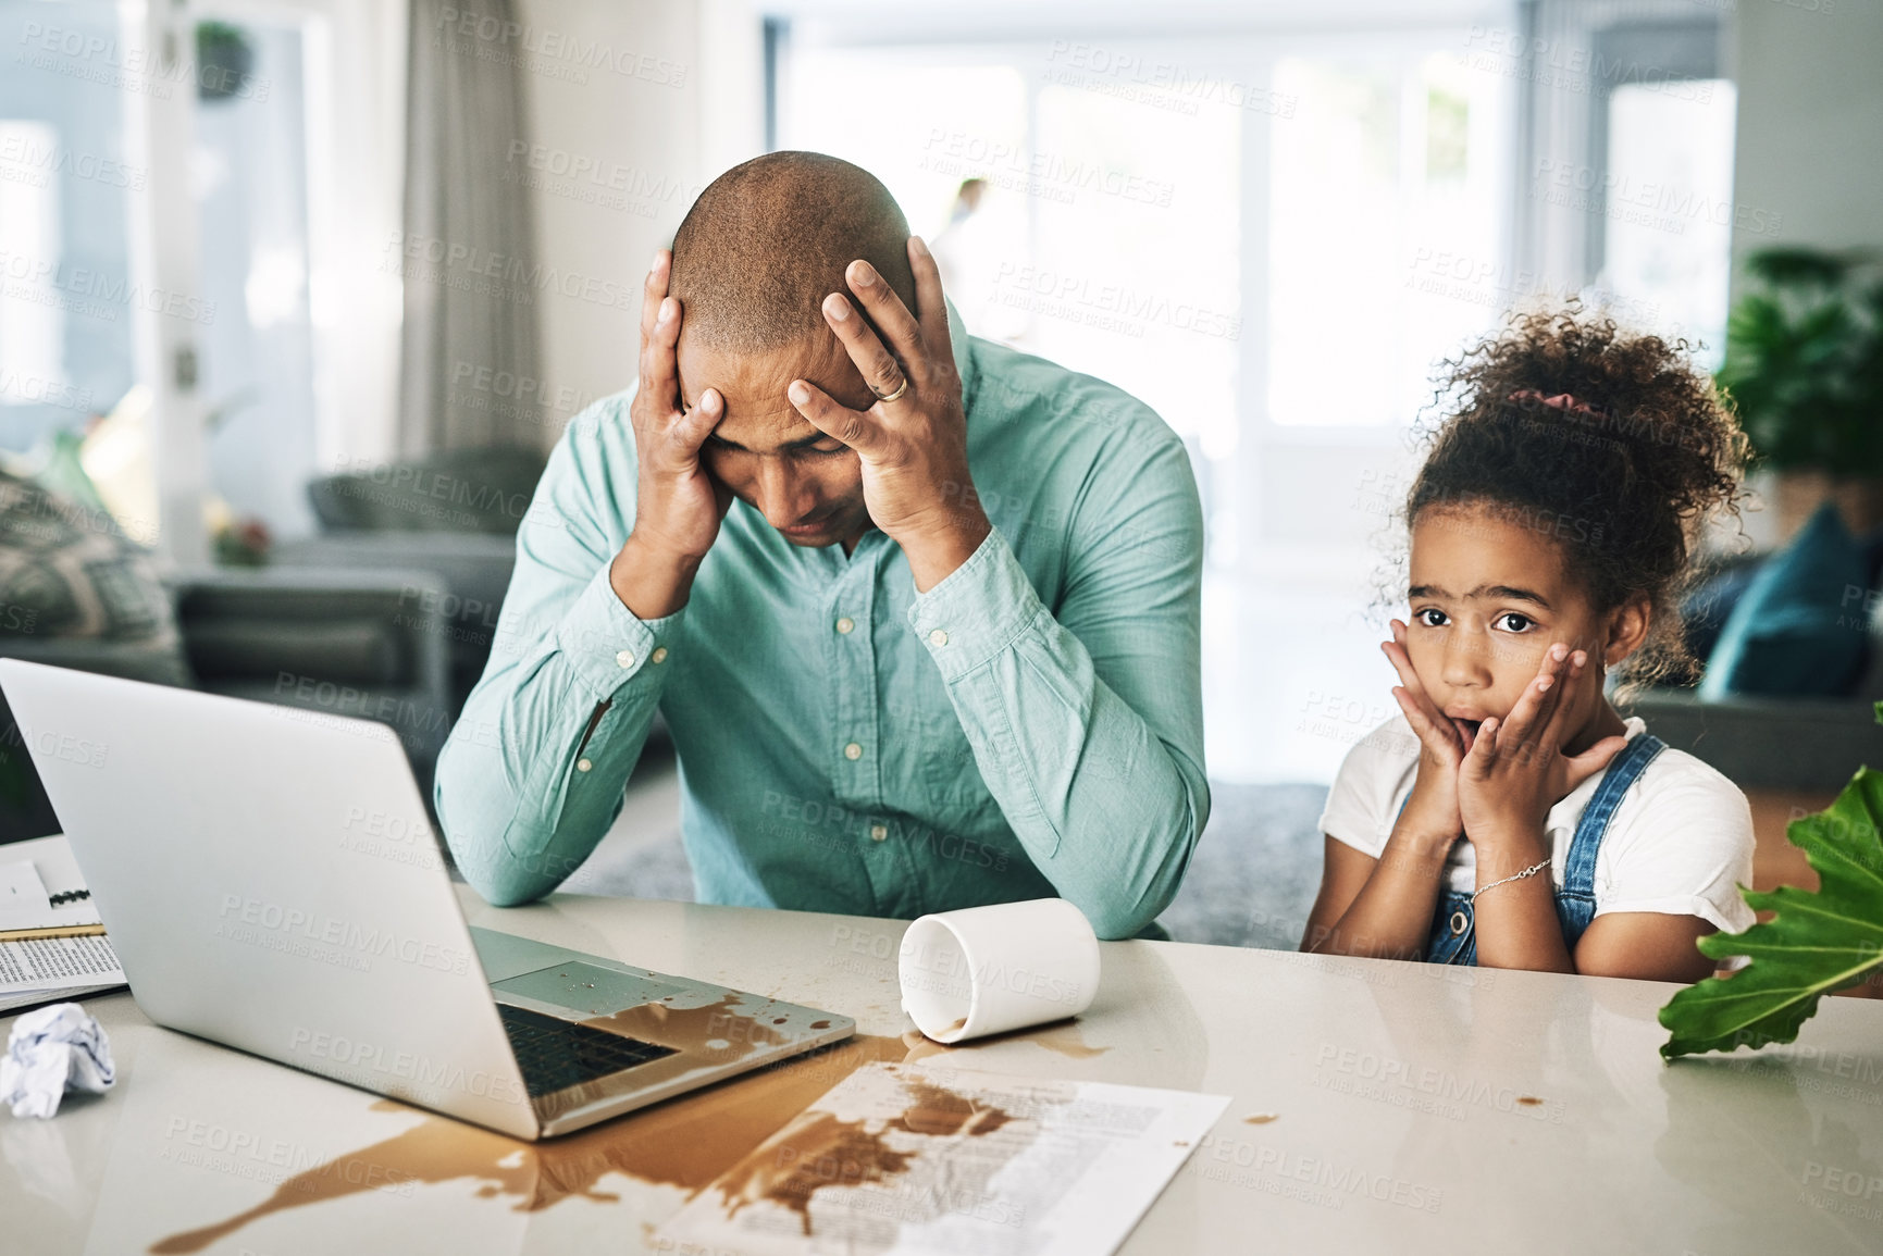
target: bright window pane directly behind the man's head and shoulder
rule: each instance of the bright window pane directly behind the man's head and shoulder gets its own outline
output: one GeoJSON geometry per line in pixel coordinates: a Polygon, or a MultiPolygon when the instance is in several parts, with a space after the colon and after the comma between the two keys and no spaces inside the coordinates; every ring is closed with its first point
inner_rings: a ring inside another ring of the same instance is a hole
{"type": "Polygon", "coordinates": [[[972,49],[815,49],[789,77],[780,147],[881,177],[970,331],[1100,375],[1207,450],[1233,446],[1235,109],[1160,111],[1094,90],[1103,77],[1053,81],[972,49]],[[847,85],[885,62],[906,90],[859,117],[847,85]]]}

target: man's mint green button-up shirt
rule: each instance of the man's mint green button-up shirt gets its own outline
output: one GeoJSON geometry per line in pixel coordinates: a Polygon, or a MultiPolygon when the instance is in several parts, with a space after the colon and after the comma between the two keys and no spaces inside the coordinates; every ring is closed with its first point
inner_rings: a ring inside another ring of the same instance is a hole
{"type": "Polygon", "coordinates": [[[994,529],[921,595],[883,533],[798,548],[734,501],[687,604],[638,620],[608,584],[631,394],[571,422],[437,770],[490,902],[595,849],[659,710],[702,902],[915,917],[1058,894],[1102,938],[1169,904],[1209,815],[1188,456],[1128,394],[951,330],[994,529]]]}

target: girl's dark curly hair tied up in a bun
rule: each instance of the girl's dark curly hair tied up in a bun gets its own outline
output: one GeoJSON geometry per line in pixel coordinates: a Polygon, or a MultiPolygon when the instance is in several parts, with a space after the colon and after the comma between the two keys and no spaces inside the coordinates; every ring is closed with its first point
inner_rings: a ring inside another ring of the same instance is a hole
{"type": "Polygon", "coordinates": [[[1512,314],[1440,365],[1439,418],[1420,426],[1427,456],[1407,495],[1408,531],[1435,507],[1546,531],[1601,612],[1646,595],[1651,621],[1623,665],[1629,687],[1695,678],[1674,608],[1698,574],[1702,525],[1738,516],[1751,454],[1689,352],[1578,303],[1512,314]]]}

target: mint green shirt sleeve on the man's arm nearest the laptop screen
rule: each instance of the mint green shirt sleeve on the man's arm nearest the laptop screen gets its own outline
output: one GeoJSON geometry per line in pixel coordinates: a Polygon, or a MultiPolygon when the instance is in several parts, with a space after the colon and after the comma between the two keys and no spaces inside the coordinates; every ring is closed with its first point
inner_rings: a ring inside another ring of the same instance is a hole
{"type": "MultiPolygon", "coordinates": [[[[593,446],[627,441],[625,401],[571,424],[518,529],[491,657],[439,757],[433,802],[452,857],[490,902],[555,889],[621,810],[685,610],[640,620],[608,567],[633,518],[593,446]]],[[[633,459],[627,459],[633,467],[633,459]]]]}

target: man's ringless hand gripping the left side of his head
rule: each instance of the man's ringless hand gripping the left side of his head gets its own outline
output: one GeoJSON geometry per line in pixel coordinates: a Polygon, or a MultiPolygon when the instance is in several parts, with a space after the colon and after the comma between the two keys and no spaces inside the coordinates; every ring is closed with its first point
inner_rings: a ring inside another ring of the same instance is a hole
{"type": "Polygon", "coordinates": [[[635,424],[635,529],[608,567],[621,603],[642,620],[670,616],[687,603],[693,572],[719,535],[732,495],[700,463],[700,444],[725,416],[716,388],[687,411],[680,401],[680,301],[667,296],[672,254],[653,254],[640,299],[640,384],[635,424]]]}

